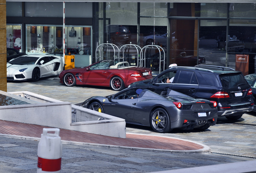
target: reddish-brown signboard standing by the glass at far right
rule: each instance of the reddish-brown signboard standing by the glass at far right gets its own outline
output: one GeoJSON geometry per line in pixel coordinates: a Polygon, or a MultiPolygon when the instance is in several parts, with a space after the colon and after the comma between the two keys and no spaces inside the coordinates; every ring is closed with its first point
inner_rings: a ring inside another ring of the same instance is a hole
{"type": "Polygon", "coordinates": [[[236,54],[235,55],[235,70],[241,71],[244,76],[249,74],[249,55],[236,54]]]}

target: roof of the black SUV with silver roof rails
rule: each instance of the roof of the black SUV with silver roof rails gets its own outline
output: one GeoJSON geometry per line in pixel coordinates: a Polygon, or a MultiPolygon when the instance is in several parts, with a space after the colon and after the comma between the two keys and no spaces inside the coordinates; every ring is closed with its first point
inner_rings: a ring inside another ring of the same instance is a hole
{"type": "Polygon", "coordinates": [[[217,73],[217,74],[239,72],[237,70],[234,70],[233,68],[223,67],[223,66],[213,66],[213,65],[173,66],[171,68],[183,68],[183,69],[191,69],[191,70],[200,70],[200,71],[212,72],[212,73],[217,73]]]}

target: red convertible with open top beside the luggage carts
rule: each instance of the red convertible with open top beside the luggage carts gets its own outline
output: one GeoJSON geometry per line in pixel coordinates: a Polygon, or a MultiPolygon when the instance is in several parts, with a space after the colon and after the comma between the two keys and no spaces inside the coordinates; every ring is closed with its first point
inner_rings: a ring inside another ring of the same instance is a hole
{"type": "Polygon", "coordinates": [[[115,91],[127,88],[129,84],[153,78],[150,68],[130,66],[128,62],[101,60],[87,67],[63,70],[60,83],[72,87],[74,85],[94,85],[111,87],[115,91]]]}

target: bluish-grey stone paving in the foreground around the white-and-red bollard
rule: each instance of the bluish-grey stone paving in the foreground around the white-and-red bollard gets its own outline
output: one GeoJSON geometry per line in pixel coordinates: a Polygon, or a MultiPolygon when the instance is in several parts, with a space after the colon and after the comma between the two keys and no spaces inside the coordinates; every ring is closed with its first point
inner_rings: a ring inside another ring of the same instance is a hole
{"type": "MultiPolygon", "coordinates": [[[[35,173],[37,140],[0,136],[0,173],[35,173]]],[[[61,173],[149,173],[254,159],[213,153],[169,153],[62,144],[61,173]]]]}

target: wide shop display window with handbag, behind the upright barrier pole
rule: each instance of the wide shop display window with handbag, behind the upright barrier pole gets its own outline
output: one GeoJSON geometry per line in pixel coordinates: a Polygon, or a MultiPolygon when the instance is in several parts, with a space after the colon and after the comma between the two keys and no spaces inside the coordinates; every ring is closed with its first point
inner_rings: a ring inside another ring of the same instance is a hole
{"type": "Polygon", "coordinates": [[[27,25],[26,53],[65,53],[91,55],[91,27],[65,28],[65,44],[63,44],[62,26],[30,26],[27,25]]]}

